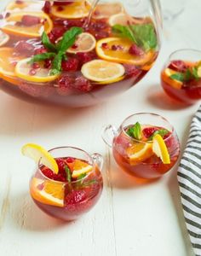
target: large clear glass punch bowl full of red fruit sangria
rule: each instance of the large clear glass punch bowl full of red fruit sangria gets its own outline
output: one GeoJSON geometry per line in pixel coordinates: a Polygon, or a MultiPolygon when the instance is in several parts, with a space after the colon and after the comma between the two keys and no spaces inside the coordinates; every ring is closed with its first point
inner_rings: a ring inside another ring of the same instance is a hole
{"type": "Polygon", "coordinates": [[[0,87],[68,107],[128,90],[159,50],[158,1],[142,2],[11,1],[0,13],[0,87]]]}

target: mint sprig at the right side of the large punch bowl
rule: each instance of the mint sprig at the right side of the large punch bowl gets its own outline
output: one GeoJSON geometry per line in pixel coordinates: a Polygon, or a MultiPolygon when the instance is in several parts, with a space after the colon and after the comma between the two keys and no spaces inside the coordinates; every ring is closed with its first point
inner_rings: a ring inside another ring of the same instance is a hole
{"type": "Polygon", "coordinates": [[[129,38],[145,51],[157,47],[157,35],[154,26],[149,24],[135,24],[130,26],[114,25],[112,32],[123,38],[129,38]]]}

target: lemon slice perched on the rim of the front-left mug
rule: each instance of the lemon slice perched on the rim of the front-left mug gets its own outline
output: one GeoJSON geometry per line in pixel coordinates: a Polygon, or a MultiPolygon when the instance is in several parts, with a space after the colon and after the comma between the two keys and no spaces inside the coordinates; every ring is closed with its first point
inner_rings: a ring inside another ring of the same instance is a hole
{"type": "Polygon", "coordinates": [[[58,165],[52,155],[49,154],[46,149],[37,144],[28,143],[24,145],[21,148],[21,153],[32,158],[32,160],[35,160],[36,163],[40,160],[41,164],[49,167],[53,172],[59,172],[58,165]]]}

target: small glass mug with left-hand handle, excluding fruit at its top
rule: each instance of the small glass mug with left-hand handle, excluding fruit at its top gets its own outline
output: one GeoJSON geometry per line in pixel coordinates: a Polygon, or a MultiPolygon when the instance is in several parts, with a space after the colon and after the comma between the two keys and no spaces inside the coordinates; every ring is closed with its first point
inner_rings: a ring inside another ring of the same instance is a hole
{"type": "Polygon", "coordinates": [[[175,166],[175,162],[180,154],[180,143],[174,127],[169,124],[167,119],[155,113],[132,114],[123,120],[123,123],[118,129],[113,125],[107,125],[103,131],[102,138],[104,142],[112,148],[112,153],[118,166],[121,166],[125,172],[132,176],[145,180],[155,179],[169,172],[169,170],[175,166]],[[146,153],[144,153],[143,157],[139,157],[139,160],[135,160],[135,163],[130,161],[128,148],[136,144],[138,148],[146,148],[146,146],[148,146],[147,142],[135,140],[126,133],[126,129],[130,125],[135,125],[136,122],[143,125],[161,127],[170,131],[169,136],[164,139],[164,143],[169,151],[169,164],[164,164],[157,155],[150,153],[148,157],[146,157],[146,153]]]}

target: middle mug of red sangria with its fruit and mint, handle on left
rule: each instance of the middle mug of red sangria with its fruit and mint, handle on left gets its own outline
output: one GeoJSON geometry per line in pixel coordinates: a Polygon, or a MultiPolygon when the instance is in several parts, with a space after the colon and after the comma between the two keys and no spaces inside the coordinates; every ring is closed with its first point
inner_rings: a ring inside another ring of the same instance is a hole
{"type": "MultiPolygon", "coordinates": [[[[134,177],[154,179],[175,166],[180,154],[180,143],[174,128],[158,114],[136,113],[111,131],[114,159],[123,170],[134,177]]],[[[108,143],[108,138],[105,137],[108,143]]]]}

